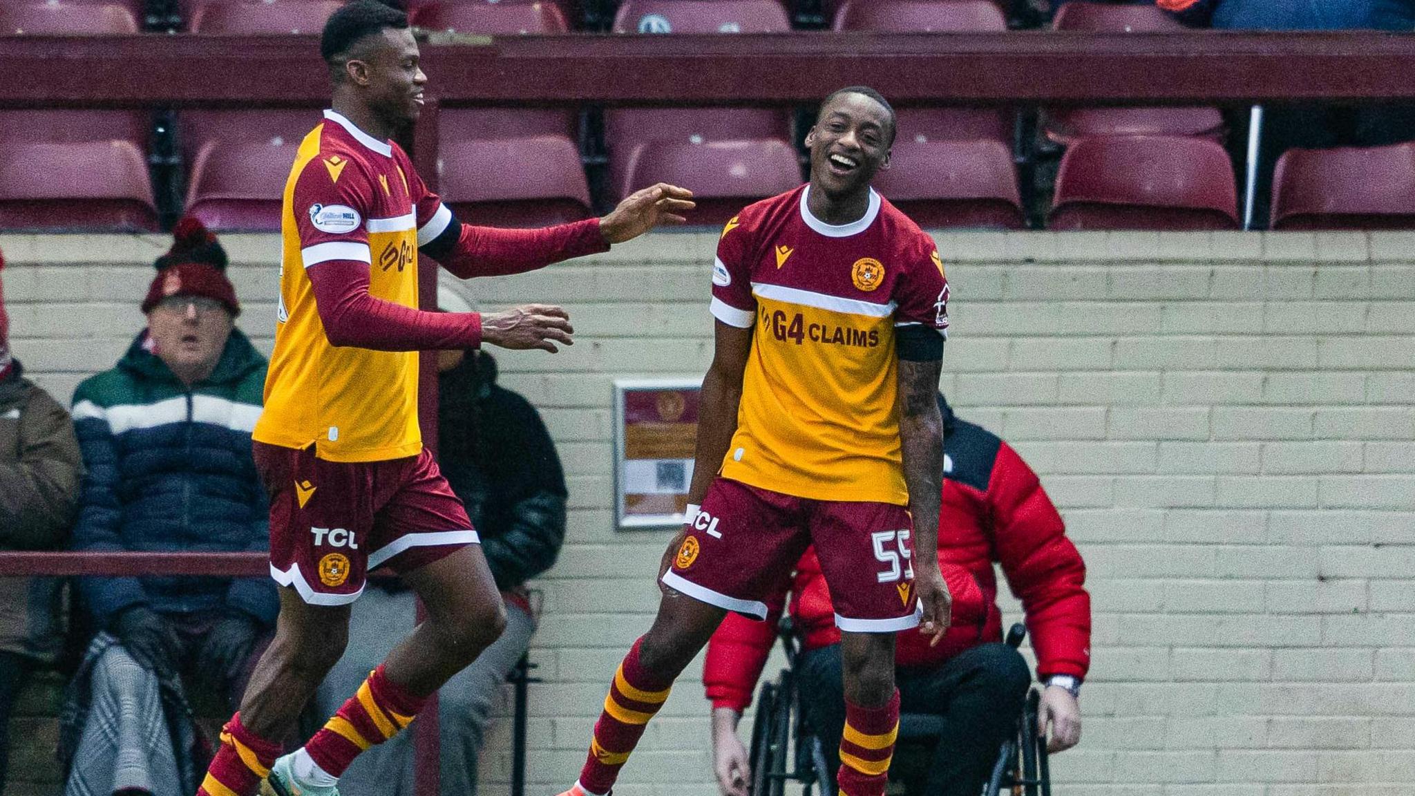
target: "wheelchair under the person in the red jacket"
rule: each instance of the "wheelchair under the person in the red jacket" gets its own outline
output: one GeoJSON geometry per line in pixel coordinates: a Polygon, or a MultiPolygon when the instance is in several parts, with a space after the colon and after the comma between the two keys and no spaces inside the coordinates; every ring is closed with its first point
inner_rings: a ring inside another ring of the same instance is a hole
{"type": "MultiPolygon", "coordinates": [[[[801,705],[795,673],[801,642],[790,616],[781,619],[777,633],[785,647],[787,669],[781,670],[775,681],[764,683],[757,695],[749,752],[751,796],[785,796],[790,783],[801,785],[801,796],[835,796],[826,792],[831,776],[825,752],[801,705]]],[[[1022,623],[1013,625],[1007,632],[1007,644],[1020,646],[1026,635],[1022,623]]],[[[1022,715],[1017,717],[1016,729],[998,752],[982,796],[1051,796],[1047,739],[1037,732],[1040,701],[1041,691],[1032,688],[1022,715]]],[[[900,714],[894,765],[890,766],[890,793],[908,793],[896,780],[896,773],[907,771],[910,762],[927,765],[941,728],[942,721],[937,715],[900,714]]]]}

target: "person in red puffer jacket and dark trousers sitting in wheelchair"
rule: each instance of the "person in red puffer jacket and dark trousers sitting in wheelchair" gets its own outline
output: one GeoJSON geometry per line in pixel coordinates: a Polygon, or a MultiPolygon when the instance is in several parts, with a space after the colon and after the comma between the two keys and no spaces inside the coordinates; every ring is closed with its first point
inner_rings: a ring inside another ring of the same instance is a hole
{"type": "MultiPolygon", "coordinates": [[[[1050,725],[1051,752],[1081,739],[1077,697],[1091,661],[1091,596],[1085,562],[1037,474],[1006,442],[955,418],[942,395],[938,401],[945,450],[938,562],[954,595],[952,623],[932,647],[927,636],[899,633],[896,667],[900,710],[944,718],[923,793],[975,796],[1032,681],[1022,654],[1002,643],[993,562],[1002,565],[1026,612],[1037,676],[1047,684],[1039,731],[1050,725]]],[[[737,722],[767,663],[787,591],[802,635],[798,676],[805,710],[821,737],[826,771],[836,766],[845,724],[841,632],[812,548],[791,582],[768,601],[766,622],[729,613],[708,644],[703,686],[712,701],[713,768],[724,796],[747,796],[751,775],[737,722]]]]}

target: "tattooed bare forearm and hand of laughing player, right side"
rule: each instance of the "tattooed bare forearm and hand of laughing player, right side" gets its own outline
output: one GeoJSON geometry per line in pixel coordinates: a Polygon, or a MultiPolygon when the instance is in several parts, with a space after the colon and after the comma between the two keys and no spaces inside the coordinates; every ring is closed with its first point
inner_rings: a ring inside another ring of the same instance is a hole
{"type": "Polygon", "coordinates": [[[938,511],[944,483],[944,418],[938,411],[942,360],[899,361],[899,436],[914,520],[914,589],[924,608],[920,632],[937,644],[948,630],[952,596],[938,568],[938,511]]]}

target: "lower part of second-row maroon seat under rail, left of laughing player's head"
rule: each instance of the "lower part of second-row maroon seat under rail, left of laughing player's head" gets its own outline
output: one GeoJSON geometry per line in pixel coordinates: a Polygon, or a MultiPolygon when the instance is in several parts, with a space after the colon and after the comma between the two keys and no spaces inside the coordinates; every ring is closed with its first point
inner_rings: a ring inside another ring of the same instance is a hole
{"type": "Polygon", "coordinates": [[[644,150],[655,143],[716,143],[741,140],[791,140],[791,116],[766,109],[625,109],[604,113],[604,139],[610,150],[610,198],[633,188],[630,174],[644,150]]]}

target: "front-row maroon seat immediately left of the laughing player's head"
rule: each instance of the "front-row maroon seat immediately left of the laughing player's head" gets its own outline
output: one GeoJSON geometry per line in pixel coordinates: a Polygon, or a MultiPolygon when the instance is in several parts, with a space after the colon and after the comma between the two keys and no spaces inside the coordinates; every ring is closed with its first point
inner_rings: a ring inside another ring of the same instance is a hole
{"type": "Polygon", "coordinates": [[[739,142],[652,142],[627,176],[635,188],[672,183],[693,190],[689,224],[722,225],[757,200],[801,184],[795,149],[780,139],[739,142]]]}

